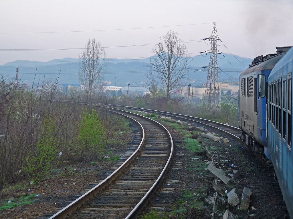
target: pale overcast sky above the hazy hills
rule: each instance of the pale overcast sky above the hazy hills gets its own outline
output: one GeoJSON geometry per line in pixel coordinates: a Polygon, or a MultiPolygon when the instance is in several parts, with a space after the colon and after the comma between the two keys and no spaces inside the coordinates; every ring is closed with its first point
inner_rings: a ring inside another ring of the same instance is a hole
{"type": "MultiPolygon", "coordinates": [[[[104,46],[158,43],[168,30],[183,41],[207,38],[213,24],[70,33],[59,32],[157,27],[216,22],[219,38],[235,55],[254,58],[293,45],[292,0],[190,1],[5,1],[0,4],[0,49],[84,48],[95,37],[104,46]]],[[[219,44],[220,45],[220,44],[219,44]]],[[[186,44],[191,55],[210,49],[205,42],[186,44]]],[[[151,56],[153,46],[106,48],[108,58],[151,56]]],[[[218,46],[222,52],[227,49],[218,46]]],[[[0,51],[0,61],[49,61],[78,58],[80,50],[0,51]]]]}

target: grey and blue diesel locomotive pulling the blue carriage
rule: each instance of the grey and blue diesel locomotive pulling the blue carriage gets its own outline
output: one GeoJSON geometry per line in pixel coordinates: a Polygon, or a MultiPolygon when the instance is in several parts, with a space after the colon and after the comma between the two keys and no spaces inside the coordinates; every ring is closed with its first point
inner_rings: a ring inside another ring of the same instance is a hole
{"type": "Polygon", "coordinates": [[[255,151],[264,151],[270,159],[266,137],[268,76],[290,47],[277,47],[276,54],[256,57],[239,77],[240,138],[255,151]]]}

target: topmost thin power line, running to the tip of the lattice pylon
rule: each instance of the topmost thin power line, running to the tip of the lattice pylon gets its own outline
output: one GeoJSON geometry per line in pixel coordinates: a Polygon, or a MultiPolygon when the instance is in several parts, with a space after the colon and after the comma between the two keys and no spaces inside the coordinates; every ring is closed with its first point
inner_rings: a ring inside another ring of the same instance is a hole
{"type": "Polygon", "coordinates": [[[201,25],[201,24],[213,24],[213,23],[197,23],[197,24],[182,24],[182,25],[169,25],[169,26],[157,26],[157,27],[134,27],[134,28],[120,28],[120,29],[101,29],[101,30],[76,30],[76,31],[54,31],[54,32],[7,32],[0,34],[47,34],[47,33],[76,33],[76,32],[95,32],[95,31],[114,31],[114,30],[131,30],[131,29],[150,29],[150,28],[161,28],[161,27],[179,27],[179,26],[190,26],[190,25],[201,25]]]}

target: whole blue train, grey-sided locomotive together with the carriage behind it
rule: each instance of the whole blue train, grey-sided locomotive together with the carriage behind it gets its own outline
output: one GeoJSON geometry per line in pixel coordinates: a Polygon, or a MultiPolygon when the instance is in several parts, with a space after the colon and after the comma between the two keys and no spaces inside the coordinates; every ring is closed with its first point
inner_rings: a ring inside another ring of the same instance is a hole
{"type": "Polygon", "coordinates": [[[292,150],[293,47],[256,57],[239,77],[240,138],[264,154],[275,169],[288,213],[293,218],[292,150]]]}

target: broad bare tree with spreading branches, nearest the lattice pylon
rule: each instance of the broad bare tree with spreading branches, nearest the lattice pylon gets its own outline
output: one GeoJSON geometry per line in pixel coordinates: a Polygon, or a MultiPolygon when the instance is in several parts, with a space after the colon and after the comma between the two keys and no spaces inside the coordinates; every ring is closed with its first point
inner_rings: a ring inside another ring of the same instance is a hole
{"type": "Polygon", "coordinates": [[[147,86],[152,91],[158,79],[169,99],[172,91],[188,76],[190,55],[186,46],[180,43],[178,33],[170,30],[159,41],[152,50],[154,57],[151,57],[150,69],[146,73],[147,86]]]}

